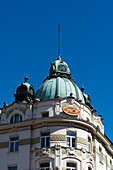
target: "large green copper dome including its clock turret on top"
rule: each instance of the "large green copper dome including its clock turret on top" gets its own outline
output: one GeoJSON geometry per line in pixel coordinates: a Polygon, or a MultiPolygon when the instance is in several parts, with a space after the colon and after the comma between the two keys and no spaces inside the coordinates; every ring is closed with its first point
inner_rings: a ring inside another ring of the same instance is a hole
{"type": "Polygon", "coordinates": [[[85,103],[81,90],[71,78],[68,65],[58,58],[54,63],[51,63],[49,76],[37,91],[35,99],[49,100],[69,96],[85,103]]]}

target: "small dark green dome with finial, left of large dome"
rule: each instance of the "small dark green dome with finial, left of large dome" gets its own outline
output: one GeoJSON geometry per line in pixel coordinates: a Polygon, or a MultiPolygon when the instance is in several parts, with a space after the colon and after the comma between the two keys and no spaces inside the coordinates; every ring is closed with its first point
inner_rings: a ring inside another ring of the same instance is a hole
{"type": "Polygon", "coordinates": [[[14,94],[15,102],[29,103],[34,100],[33,86],[27,82],[27,76],[24,79],[25,82],[18,86],[16,94],[14,94]]]}

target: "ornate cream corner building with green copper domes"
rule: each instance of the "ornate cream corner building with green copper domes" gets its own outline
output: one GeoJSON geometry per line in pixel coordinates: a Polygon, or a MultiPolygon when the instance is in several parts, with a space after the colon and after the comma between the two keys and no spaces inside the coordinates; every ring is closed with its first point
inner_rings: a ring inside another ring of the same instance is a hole
{"type": "Polygon", "coordinates": [[[0,109],[0,170],[111,170],[113,143],[60,57],[34,93],[20,84],[0,109]]]}

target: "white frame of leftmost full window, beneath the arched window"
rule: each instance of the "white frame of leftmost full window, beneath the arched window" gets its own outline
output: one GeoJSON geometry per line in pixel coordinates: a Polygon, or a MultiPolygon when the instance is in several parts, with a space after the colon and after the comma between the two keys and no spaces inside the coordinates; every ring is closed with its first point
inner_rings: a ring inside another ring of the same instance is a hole
{"type": "Polygon", "coordinates": [[[19,151],[19,137],[18,136],[10,138],[9,151],[10,152],[18,152],[19,151]],[[14,139],[14,138],[17,138],[17,139],[13,141],[12,139],[14,139]],[[12,144],[13,144],[13,150],[11,149],[12,144]],[[17,150],[16,150],[16,144],[18,145],[17,150]]]}

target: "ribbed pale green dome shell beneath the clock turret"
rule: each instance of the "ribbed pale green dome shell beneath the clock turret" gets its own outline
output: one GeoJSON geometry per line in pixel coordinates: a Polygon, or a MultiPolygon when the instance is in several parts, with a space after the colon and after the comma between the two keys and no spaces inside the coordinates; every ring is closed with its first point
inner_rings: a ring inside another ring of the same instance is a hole
{"type": "Polygon", "coordinates": [[[83,95],[72,79],[57,77],[46,80],[39,88],[35,99],[49,100],[58,97],[64,98],[72,96],[84,103],[83,95]]]}

